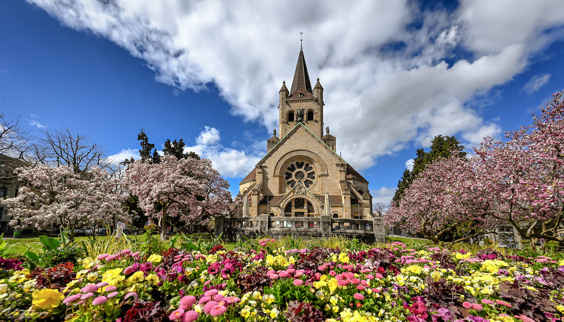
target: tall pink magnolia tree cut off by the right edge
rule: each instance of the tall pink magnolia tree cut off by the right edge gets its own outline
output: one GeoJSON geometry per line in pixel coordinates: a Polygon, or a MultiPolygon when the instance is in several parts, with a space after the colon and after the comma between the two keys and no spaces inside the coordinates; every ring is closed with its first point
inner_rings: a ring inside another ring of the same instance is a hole
{"type": "Polygon", "coordinates": [[[507,142],[486,137],[475,149],[483,186],[503,200],[496,217],[532,245],[540,238],[564,247],[564,102],[553,94],[532,126],[508,132],[507,142]]]}

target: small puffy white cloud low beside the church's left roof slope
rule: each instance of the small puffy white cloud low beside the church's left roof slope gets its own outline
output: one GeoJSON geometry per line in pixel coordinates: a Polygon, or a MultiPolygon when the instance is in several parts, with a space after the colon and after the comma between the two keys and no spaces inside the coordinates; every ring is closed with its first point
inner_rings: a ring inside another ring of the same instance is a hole
{"type": "Polygon", "coordinates": [[[219,141],[218,129],[206,126],[196,138],[196,145],[184,147],[184,152],[193,151],[202,158],[210,159],[213,168],[224,177],[245,176],[260,159],[245,151],[224,147],[219,141]]]}

